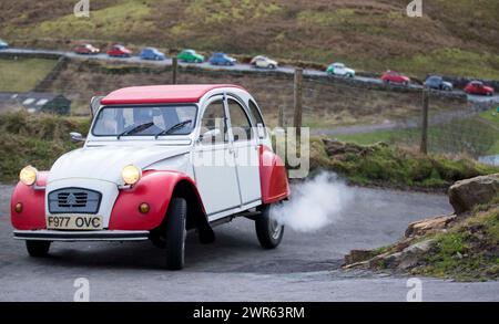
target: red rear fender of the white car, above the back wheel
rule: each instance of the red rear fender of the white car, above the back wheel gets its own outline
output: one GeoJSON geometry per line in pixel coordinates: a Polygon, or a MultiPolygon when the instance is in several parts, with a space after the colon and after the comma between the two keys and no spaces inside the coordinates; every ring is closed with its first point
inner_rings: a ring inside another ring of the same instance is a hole
{"type": "Polygon", "coordinates": [[[259,146],[258,151],[262,202],[273,203],[286,199],[289,184],[283,160],[264,145],[259,146]]]}

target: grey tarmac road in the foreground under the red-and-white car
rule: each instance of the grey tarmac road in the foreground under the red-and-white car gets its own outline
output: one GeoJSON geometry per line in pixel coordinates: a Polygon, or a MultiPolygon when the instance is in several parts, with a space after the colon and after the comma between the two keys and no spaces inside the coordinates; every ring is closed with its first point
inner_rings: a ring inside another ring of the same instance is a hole
{"type": "MultiPolygon", "coordinates": [[[[91,301],[406,301],[408,278],[344,272],[343,255],[451,210],[444,195],[349,187],[355,200],[339,221],[312,233],[287,228],[276,250],[259,248],[247,219],[215,228],[213,244],[190,233],[186,266],[171,272],[150,242],[54,243],[50,257],[28,257],[11,234],[12,189],[0,185],[0,301],[72,301],[78,278],[91,301]]],[[[421,281],[424,301],[499,301],[499,282],[421,281]]]]}

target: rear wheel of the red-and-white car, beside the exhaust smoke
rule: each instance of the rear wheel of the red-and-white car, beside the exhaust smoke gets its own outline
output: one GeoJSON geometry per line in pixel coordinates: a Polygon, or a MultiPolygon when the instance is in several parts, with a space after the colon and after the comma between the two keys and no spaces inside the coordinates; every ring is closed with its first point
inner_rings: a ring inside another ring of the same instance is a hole
{"type": "Polygon", "coordinates": [[[264,249],[277,248],[284,236],[284,226],[271,218],[271,208],[272,205],[262,206],[255,219],[256,237],[264,249]]]}

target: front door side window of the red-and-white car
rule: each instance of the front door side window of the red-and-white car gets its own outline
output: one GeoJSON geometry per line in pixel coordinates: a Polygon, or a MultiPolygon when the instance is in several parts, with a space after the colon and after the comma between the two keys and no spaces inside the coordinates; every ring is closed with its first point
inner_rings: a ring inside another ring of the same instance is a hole
{"type": "Polygon", "coordinates": [[[201,121],[201,135],[204,144],[227,142],[227,125],[222,101],[211,103],[201,121]]]}

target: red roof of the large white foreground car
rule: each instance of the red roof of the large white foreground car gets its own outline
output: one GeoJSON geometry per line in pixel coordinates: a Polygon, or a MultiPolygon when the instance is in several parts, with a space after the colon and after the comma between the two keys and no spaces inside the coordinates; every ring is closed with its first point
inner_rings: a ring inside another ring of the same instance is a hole
{"type": "Polygon", "coordinates": [[[163,104],[163,103],[197,103],[201,97],[215,88],[237,87],[234,84],[172,84],[172,85],[146,85],[123,87],[111,92],[101,104],[126,105],[126,104],[163,104]]]}

